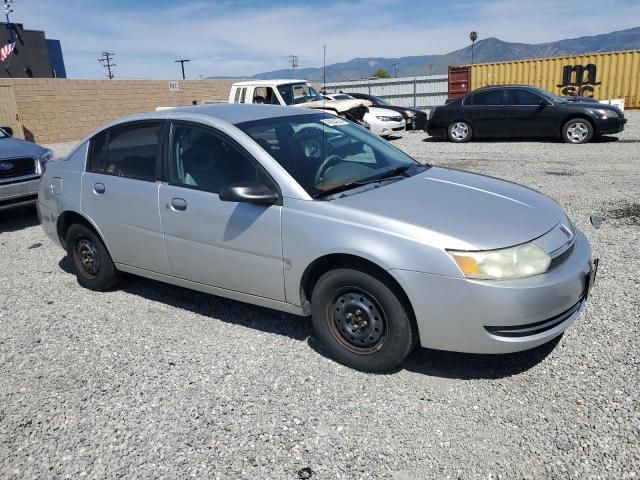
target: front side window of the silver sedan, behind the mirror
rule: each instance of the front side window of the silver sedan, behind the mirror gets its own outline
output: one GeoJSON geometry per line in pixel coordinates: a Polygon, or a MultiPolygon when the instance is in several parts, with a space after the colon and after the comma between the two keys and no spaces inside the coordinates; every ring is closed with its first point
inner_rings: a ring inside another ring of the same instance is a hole
{"type": "Polygon", "coordinates": [[[225,185],[270,177],[248,154],[212,130],[175,124],[171,143],[171,184],[218,193],[225,185]]]}

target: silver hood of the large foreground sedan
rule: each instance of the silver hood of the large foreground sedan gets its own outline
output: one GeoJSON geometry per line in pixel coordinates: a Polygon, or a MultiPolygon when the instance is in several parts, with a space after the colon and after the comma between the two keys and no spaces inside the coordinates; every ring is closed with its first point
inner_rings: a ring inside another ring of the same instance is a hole
{"type": "Polygon", "coordinates": [[[519,245],[543,235],[564,218],[555,201],[535,190],[436,167],[334,202],[358,211],[359,221],[366,218],[376,228],[418,241],[446,243],[440,245],[444,248],[491,250],[519,245]]]}

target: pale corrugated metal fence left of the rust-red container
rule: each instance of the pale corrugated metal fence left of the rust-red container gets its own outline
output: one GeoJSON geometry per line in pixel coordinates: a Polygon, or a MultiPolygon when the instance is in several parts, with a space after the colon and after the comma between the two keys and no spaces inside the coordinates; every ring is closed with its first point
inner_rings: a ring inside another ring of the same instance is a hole
{"type": "Polygon", "coordinates": [[[423,109],[434,105],[444,105],[447,99],[447,87],[446,75],[355,80],[325,85],[325,89],[329,93],[337,91],[368,93],[383,98],[392,105],[423,109]]]}

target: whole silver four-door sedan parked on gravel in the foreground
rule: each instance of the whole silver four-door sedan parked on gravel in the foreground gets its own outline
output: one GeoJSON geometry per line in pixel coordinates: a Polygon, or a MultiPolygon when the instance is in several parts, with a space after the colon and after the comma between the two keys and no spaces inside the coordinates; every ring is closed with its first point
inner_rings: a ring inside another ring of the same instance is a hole
{"type": "Polygon", "coordinates": [[[40,183],[79,283],[133,273],[311,315],[338,361],[398,365],[416,343],[524,350],[579,315],[589,243],[546,196],[422,165],[314,110],[215,105],[111,123],[40,183]]]}

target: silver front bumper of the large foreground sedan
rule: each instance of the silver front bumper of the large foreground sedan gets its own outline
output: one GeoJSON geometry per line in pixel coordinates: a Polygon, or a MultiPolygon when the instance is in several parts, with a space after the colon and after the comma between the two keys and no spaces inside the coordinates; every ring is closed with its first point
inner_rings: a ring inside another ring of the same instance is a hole
{"type": "Polygon", "coordinates": [[[543,275],[476,281],[408,270],[390,273],[409,297],[423,347],[508,353],[546,343],[578,318],[592,268],[589,243],[576,231],[571,256],[543,275]]]}

